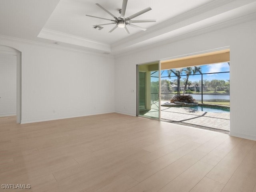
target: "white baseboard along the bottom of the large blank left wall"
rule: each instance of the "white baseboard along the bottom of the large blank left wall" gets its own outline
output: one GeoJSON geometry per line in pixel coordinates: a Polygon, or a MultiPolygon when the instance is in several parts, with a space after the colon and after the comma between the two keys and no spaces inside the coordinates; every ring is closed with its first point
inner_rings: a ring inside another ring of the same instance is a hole
{"type": "Polygon", "coordinates": [[[79,115],[73,115],[73,116],[57,116],[52,118],[40,118],[40,119],[29,119],[29,120],[21,120],[20,124],[26,124],[26,123],[35,123],[35,122],[43,122],[43,121],[52,121],[52,120],[60,120],[60,119],[68,119],[68,118],[76,118],[76,117],[84,117],[84,116],[90,116],[90,115],[100,115],[100,114],[107,114],[107,113],[114,113],[114,111],[104,111],[104,112],[97,112],[97,113],[89,113],[89,114],[79,114],[79,115]]]}

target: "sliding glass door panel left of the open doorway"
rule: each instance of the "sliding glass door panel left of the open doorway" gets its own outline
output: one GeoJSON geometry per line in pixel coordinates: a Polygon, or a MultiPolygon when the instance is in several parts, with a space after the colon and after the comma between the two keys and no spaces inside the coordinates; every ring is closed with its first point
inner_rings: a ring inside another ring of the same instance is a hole
{"type": "Polygon", "coordinates": [[[138,65],[138,116],[160,119],[159,66],[160,62],[138,65]]]}

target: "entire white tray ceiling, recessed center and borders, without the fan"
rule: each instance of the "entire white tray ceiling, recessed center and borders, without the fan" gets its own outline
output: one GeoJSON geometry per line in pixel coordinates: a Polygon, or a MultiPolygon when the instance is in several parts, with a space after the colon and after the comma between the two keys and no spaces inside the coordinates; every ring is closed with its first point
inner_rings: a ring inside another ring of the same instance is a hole
{"type": "Polygon", "coordinates": [[[111,21],[86,16],[113,19],[95,3],[120,16],[122,0],[0,0],[0,35],[117,55],[256,18],[256,0],[128,0],[126,17],[150,6],[133,20],[156,22],[136,23],[146,31],[127,26],[130,34],[109,33],[114,24],[92,26],[111,21]]]}

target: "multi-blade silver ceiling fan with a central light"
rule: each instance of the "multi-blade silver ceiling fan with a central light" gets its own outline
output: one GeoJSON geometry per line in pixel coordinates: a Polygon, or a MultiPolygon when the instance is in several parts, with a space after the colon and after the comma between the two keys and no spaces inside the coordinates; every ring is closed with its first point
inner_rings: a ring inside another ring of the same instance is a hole
{"type": "Polygon", "coordinates": [[[144,9],[144,10],[141,10],[139,11],[138,13],[135,13],[129,17],[124,17],[125,15],[125,11],[126,11],[126,6],[127,6],[127,2],[128,0],[123,0],[123,4],[122,4],[122,9],[119,10],[119,13],[121,14],[120,17],[116,17],[114,16],[112,13],[110,13],[108,10],[106,10],[104,7],[102,7],[100,4],[96,3],[97,6],[99,6],[100,8],[102,8],[105,12],[107,12],[108,14],[110,14],[113,18],[113,19],[106,19],[106,18],[101,18],[101,17],[96,17],[96,16],[91,16],[91,15],[86,15],[86,16],[89,16],[89,17],[94,17],[94,18],[99,18],[99,19],[104,19],[104,20],[109,20],[109,21],[113,21],[112,23],[106,23],[106,24],[99,24],[99,25],[94,25],[93,27],[94,28],[99,28],[102,29],[102,25],[110,25],[110,24],[115,24],[116,26],[114,26],[114,28],[112,28],[109,32],[111,33],[112,31],[114,31],[117,27],[119,28],[124,28],[124,30],[126,31],[127,34],[130,34],[130,32],[128,31],[127,29],[127,25],[128,26],[131,26],[131,27],[134,27],[134,28],[138,28],[140,30],[146,30],[145,28],[142,28],[140,26],[137,26],[137,25],[134,25],[132,23],[144,23],[144,22],[156,22],[155,19],[151,19],[151,20],[131,20],[141,14],[144,14],[148,11],[151,10],[150,7],[144,9]]]}

